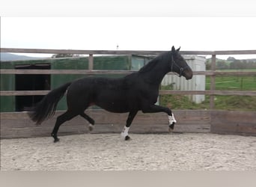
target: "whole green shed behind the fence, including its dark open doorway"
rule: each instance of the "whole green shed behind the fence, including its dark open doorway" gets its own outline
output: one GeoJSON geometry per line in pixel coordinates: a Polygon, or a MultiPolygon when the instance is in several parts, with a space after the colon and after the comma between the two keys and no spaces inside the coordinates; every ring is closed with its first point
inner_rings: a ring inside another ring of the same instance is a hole
{"type": "MultiPolygon", "coordinates": [[[[139,70],[152,57],[139,55],[105,55],[94,57],[94,70],[139,70]]],[[[1,61],[1,69],[16,70],[88,70],[88,58],[48,58],[32,61],[1,61]]],[[[48,91],[91,75],[7,75],[1,74],[1,91],[48,91]]],[[[95,75],[120,77],[121,75],[95,75]]],[[[43,96],[1,96],[1,112],[23,111],[39,102],[43,96]]],[[[58,103],[58,110],[67,108],[66,98],[58,103]]]]}

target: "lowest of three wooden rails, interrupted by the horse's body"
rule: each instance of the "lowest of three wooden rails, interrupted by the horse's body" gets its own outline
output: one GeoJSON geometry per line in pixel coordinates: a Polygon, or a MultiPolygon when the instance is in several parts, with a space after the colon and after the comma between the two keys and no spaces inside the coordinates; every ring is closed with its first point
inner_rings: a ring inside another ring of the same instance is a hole
{"type": "MultiPolygon", "coordinates": [[[[1,91],[1,96],[38,96],[46,95],[49,91],[1,91]]],[[[219,95],[219,96],[256,96],[256,91],[169,91],[160,90],[160,95],[219,95]]]]}

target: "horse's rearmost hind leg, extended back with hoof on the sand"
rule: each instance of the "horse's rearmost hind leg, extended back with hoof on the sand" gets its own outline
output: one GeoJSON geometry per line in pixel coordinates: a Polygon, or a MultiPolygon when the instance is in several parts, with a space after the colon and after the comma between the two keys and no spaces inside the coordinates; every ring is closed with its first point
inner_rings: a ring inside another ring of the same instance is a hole
{"type": "Polygon", "coordinates": [[[55,126],[52,130],[52,137],[54,138],[54,143],[59,141],[59,138],[57,136],[58,129],[60,128],[61,124],[64,123],[67,120],[71,120],[73,117],[76,117],[77,114],[73,114],[70,111],[66,111],[64,114],[61,114],[60,116],[57,117],[55,126]]]}

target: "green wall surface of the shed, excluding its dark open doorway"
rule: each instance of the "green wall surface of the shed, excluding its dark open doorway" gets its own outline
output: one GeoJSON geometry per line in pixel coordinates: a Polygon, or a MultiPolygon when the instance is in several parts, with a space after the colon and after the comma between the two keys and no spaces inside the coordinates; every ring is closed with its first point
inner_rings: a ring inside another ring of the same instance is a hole
{"type": "MultiPolygon", "coordinates": [[[[139,70],[151,58],[137,55],[94,56],[94,70],[139,70]]],[[[1,61],[1,69],[14,69],[16,65],[50,64],[52,70],[88,70],[88,57],[49,58],[33,61],[1,61]]],[[[51,90],[66,82],[89,75],[52,75],[51,90]]],[[[124,75],[94,75],[118,78],[124,75]]],[[[15,91],[15,75],[1,75],[1,91],[15,91]]],[[[1,96],[1,111],[15,111],[15,96],[1,96]]],[[[58,103],[57,110],[67,108],[66,97],[58,103]]]]}

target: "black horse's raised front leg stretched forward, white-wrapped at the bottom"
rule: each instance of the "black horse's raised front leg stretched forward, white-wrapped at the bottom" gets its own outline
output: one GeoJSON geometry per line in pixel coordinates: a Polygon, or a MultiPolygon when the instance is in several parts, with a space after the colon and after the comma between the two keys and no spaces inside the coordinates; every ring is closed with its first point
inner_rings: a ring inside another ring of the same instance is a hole
{"type": "Polygon", "coordinates": [[[174,114],[171,112],[170,108],[166,108],[160,105],[144,105],[142,108],[143,113],[156,113],[156,112],[165,112],[168,114],[169,120],[169,132],[172,132],[174,129],[174,124],[177,123],[177,120],[174,118],[174,114]]]}

